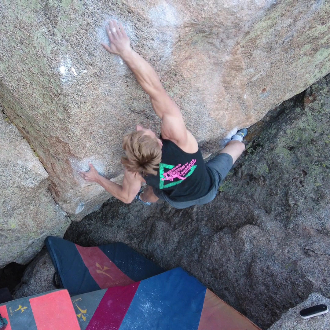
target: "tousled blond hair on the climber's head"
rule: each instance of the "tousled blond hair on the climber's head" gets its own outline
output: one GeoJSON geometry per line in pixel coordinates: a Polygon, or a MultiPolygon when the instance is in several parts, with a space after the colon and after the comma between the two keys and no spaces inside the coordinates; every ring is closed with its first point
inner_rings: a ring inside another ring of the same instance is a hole
{"type": "Polygon", "coordinates": [[[123,149],[126,157],[121,162],[130,172],[142,176],[157,174],[162,159],[162,148],[155,137],[145,134],[143,130],[128,133],[123,138],[123,149]]]}

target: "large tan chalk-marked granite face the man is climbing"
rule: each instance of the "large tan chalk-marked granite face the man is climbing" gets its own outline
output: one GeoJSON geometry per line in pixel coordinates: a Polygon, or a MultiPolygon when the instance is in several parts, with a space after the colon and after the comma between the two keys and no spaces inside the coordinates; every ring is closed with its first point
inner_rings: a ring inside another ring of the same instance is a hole
{"type": "Polygon", "coordinates": [[[100,47],[109,18],[123,22],[213,152],[233,127],[330,71],[329,16],[327,0],[4,1],[0,103],[40,156],[56,202],[81,219],[109,194],[78,168],[91,160],[119,180],[123,134],[136,123],[159,130],[132,73],[100,47]]]}

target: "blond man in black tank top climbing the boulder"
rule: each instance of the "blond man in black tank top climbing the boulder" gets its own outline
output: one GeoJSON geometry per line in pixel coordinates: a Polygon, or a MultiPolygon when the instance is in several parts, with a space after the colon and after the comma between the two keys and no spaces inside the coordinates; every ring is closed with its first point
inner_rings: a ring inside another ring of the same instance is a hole
{"type": "Polygon", "coordinates": [[[136,130],[123,138],[124,179],[116,184],[98,174],[89,162],[83,179],[97,182],[124,203],[134,198],[150,205],[158,199],[183,209],[212,201],[218,187],[245,149],[242,142],[247,129],[237,131],[220,153],[204,162],[198,143],[187,130],[180,109],[168,96],[151,65],[130,47],[121,23],[109,21],[106,26],[110,45],[102,46],[119,55],[133,71],[143,90],[149,94],[152,108],[161,119],[161,135],[136,125],[136,130]],[[147,183],[142,190],[141,185],[147,183]]]}

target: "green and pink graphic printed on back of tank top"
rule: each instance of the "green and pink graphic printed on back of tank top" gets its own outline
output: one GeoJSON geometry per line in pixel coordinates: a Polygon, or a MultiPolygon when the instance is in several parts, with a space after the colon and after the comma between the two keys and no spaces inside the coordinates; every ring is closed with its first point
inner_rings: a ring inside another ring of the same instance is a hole
{"type": "Polygon", "coordinates": [[[190,163],[185,163],[184,165],[178,164],[177,166],[160,163],[159,189],[172,187],[174,185],[180,184],[183,180],[187,179],[195,171],[197,167],[195,163],[196,159],[192,159],[190,163]],[[168,169],[169,171],[164,172],[164,169],[168,169]],[[166,181],[169,181],[169,183],[166,183],[166,181]]]}

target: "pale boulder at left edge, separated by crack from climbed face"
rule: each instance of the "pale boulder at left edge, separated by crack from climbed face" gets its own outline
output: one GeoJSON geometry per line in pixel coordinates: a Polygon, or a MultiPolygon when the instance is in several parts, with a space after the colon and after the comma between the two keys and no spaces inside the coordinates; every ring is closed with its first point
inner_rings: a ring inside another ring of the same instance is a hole
{"type": "Polygon", "coordinates": [[[48,174],[0,108],[0,268],[28,263],[49,235],[62,236],[70,220],[53,200],[48,174]]]}

